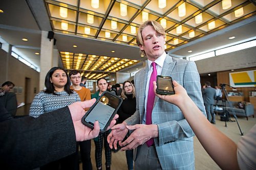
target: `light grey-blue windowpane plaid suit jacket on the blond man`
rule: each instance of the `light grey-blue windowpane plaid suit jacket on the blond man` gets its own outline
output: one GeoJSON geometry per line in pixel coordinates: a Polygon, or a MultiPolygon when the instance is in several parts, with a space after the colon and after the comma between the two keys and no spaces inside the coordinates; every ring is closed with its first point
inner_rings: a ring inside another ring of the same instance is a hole
{"type": "MultiPolygon", "coordinates": [[[[145,88],[148,67],[135,75],[136,112],[125,122],[128,125],[141,124],[144,114],[145,88]]],[[[200,77],[195,62],[166,56],[162,76],[170,76],[186,90],[190,98],[206,116],[202,99],[200,77]]],[[[152,124],[157,124],[159,136],[155,138],[157,155],[162,169],[195,169],[194,132],[181,110],[173,104],[155,98],[152,124]]],[[[139,152],[135,149],[134,160],[139,152]]]]}

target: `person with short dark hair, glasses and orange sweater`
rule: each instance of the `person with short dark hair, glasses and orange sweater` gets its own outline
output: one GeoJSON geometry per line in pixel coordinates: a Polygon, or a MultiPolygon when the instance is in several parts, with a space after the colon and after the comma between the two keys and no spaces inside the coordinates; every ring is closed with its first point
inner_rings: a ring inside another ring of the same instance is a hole
{"type": "MultiPolygon", "coordinates": [[[[72,86],[70,86],[71,90],[75,90],[79,95],[81,101],[91,100],[91,91],[88,88],[80,86],[81,83],[81,74],[77,70],[71,70],[69,73],[70,80],[72,82],[72,86]]],[[[86,111],[89,108],[85,109],[86,111]]],[[[91,162],[91,140],[81,141],[78,143],[80,147],[81,161],[82,161],[82,169],[83,170],[92,170],[92,162],[91,162]]],[[[78,154],[78,147],[77,147],[78,154]]]]}

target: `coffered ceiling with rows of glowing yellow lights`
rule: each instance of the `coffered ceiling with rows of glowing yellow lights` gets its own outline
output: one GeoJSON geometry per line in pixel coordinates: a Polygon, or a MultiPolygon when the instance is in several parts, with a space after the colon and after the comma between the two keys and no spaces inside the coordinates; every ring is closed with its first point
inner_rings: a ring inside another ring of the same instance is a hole
{"type": "MultiPolygon", "coordinates": [[[[63,66],[68,70],[79,69],[88,78],[97,79],[106,77],[111,72],[136,68],[142,65],[141,61],[146,60],[146,57],[140,56],[136,45],[136,33],[143,20],[156,20],[164,27],[166,52],[175,51],[177,48],[179,50],[176,51],[176,55],[186,56],[185,51],[188,48],[182,51],[183,46],[203,40],[204,37],[214,35],[215,32],[221,32],[249,18],[255,20],[256,14],[255,2],[244,0],[167,0],[165,7],[159,7],[159,0],[98,0],[98,7],[92,5],[92,2],[92,0],[1,1],[4,13],[0,16],[3,15],[4,18],[0,17],[0,35],[14,47],[20,48],[20,51],[28,50],[34,53],[40,49],[37,45],[40,44],[39,32],[53,31],[57,40],[55,47],[59,51],[63,66]],[[231,2],[231,5],[225,7],[225,2],[231,2]],[[10,13],[9,10],[12,12],[10,13]],[[182,11],[183,14],[179,14],[182,11]],[[38,42],[27,45],[24,42],[18,43],[21,39],[20,33],[23,37],[34,34],[35,36],[30,37],[31,39],[37,37],[38,42]],[[17,37],[17,42],[11,35],[17,37]]],[[[248,28],[244,26],[243,29],[236,30],[236,34],[245,32],[248,28]]],[[[229,33],[235,29],[238,27],[229,29],[229,33]]],[[[247,37],[253,34],[255,36],[255,32],[250,31],[247,37]]],[[[211,38],[216,37],[217,35],[211,38]]],[[[215,41],[220,40],[221,36],[218,37],[215,41]]],[[[202,48],[209,48],[212,44],[219,43],[215,41],[207,39],[201,41],[198,46],[194,43],[193,51],[198,52],[199,49],[202,51],[202,48]],[[210,45],[207,45],[207,41],[211,42],[210,45]],[[204,42],[203,47],[202,42],[204,42]]],[[[223,39],[221,42],[230,41],[223,39]]],[[[28,52],[26,54],[29,56],[28,52]]],[[[35,56],[31,58],[35,60],[35,56]]]]}

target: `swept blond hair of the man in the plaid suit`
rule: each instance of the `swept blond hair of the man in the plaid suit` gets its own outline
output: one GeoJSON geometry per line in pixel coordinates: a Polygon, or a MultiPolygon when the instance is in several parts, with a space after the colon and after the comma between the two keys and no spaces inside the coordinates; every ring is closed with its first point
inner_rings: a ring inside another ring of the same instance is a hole
{"type": "MultiPolygon", "coordinates": [[[[163,29],[163,27],[160,25],[160,23],[158,23],[157,21],[154,20],[147,20],[144,23],[142,23],[142,25],[140,25],[137,36],[136,36],[136,43],[138,46],[140,45],[144,45],[143,42],[143,37],[142,37],[142,31],[146,26],[152,26],[154,28],[154,30],[156,30],[156,32],[160,33],[163,35],[163,37],[165,38],[165,31],[163,29]]],[[[144,50],[141,50],[141,53],[146,55],[144,50]]]]}

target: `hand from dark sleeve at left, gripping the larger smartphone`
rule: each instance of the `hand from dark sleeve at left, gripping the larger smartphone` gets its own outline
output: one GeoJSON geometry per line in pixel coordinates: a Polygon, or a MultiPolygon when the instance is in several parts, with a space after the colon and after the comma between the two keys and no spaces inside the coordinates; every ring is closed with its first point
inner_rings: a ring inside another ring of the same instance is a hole
{"type": "MultiPolygon", "coordinates": [[[[82,117],[84,116],[84,114],[86,114],[86,111],[84,111],[84,108],[91,107],[95,102],[96,102],[96,99],[92,99],[84,102],[76,102],[68,106],[71,113],[72,120],[73,120],[73,125],[75,128],[76,141],[93,139],[99,135],[100,127],[99,127],[98,121],[94,123],[94,129],[84,126],[81,122],[82,117]]],[[[108,129],[110,129],[116,124],[117,118],[118,118],[118,114],[115,115],[108,129]]]]}

